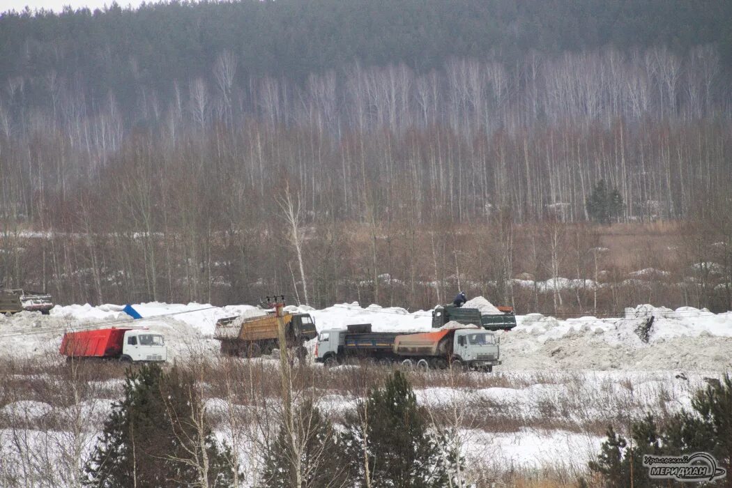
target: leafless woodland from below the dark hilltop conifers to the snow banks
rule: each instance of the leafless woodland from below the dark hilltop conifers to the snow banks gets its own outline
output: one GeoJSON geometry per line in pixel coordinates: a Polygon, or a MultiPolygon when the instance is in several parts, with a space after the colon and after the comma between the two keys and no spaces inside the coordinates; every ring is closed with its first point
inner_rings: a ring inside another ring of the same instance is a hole
{"type": "Polygon", "coordinates": [[[284,290],[431,307],[467,288],[523,311],[725,309],[732,122],[718,60],[709,47],[531,57],[528,79],[474,60],[430,75],[354,65],[305,91],[264,78],[252,105],[198,79],[167,108],[142,97],[156,123],[133,129],[113,97],[91,107],[64,91],[0,124],[2,281],[61,303],[284,290]],[[557,225],[588,221],[600,180],[621,197],[614,220],[704,222],[698,243],[671,263],[596,263],[597,238],[572,241],[586,225],[557,225]],[[627,282],[646,267],[673,279],[627,282]],[[524,274],[604,285],[513,286],[524,274]]]}

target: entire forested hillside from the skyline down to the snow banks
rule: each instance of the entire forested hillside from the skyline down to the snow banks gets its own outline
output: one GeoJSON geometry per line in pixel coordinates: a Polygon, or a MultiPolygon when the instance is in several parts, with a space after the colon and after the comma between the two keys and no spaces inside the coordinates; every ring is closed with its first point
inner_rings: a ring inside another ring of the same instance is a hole
{"type": "Polygon", "coordinates": [[[727,309],[731,20],[656,0],[5,13],[0,282],[61,302],[428,307],[459,287],[727,309]],[[610,262],[593,220],[676,230],[610,262]],[[646,268],[669,274],[627,279],[646,268]]]}

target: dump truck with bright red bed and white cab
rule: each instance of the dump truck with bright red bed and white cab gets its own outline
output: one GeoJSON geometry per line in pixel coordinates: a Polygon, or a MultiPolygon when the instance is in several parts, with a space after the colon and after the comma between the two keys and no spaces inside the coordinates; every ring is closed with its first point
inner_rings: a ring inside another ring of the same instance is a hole
{"type": "Polygon", "coordinates": [[[119,359],[120,361],[166,361],[165,339],[149,329],[116,328],[67,332],[59,353],[72,359],[119,359]]]}

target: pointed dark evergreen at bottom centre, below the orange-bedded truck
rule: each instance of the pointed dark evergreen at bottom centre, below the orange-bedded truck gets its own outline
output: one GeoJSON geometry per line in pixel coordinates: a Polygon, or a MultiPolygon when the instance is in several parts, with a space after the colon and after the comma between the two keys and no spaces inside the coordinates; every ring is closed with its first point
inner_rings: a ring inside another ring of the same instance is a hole
{"type": "Polygon", "coordinates": [[[445,487],[458,462],[447,439],[428,431],[425,410],[399,371],[347,416],[343,449],[359,486],[365,486],[365,459],[371,486],[395,488],[445,487]]]}

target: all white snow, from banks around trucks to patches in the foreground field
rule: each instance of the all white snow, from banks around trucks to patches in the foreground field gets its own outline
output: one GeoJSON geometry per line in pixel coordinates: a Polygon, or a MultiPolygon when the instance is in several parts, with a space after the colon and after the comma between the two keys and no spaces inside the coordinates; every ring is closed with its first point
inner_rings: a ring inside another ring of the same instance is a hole
{"type": "MultiPolygon", "coordinates": [[[[495,312],[482,297],[472,303],[485,312],[495,312]]],[[[184,359],[192,351],[218,356],[219,344],[212,338],[218,319],[264,313],[247,305],[145,303],[133,307],[141,320],[132,320],[122,305],[112,304],[56,306],[50,315],[0,315],[0,360],[53,358],[64,331],[102,326],[146,326],[158,331],[165,335],[171,360],[184,359]]],[[[317,310],[287,309],[309,312],[318,331],[355,323],[371,323],[374,331],[426,331],[432,321],[429,310],[408,312],[375,304],[361,307],[355,302],[317,310]]],[[[504,364],[490,377],[469,373],[468,384],[480,386],[430,386],[427,380],[414,381],[417,399],[431,412],[458,405],[476,413],[474,425],[459,430],[463,452],[466,459],[485,462],[495,470],[581,472],[602,442],[598,426],[604,428],[629,414],[689,408],[693,392],[707,377],[719,377],[732,369],[732,312],[712,314],[706,309],[672,310],[643,304],[626,309],[619,318],[561,320],[529,314],[518,316],[518,326],[512,331],[498,334],[504,364]],[[651,316],[653,323],[643,334],[651,316]],[[490,378],[492,383],[482,378],[490,378]]],[[[276,367],[276,361],[269,362],[276,367]]],[[[111,383],[114,381],[119,382],[111,383]]],[[[111,386],[119,389],[117,383],[111,386]]],[[[343,391],[323,391],[318,405],[337,416],[356,405],[356,398],[344,395],[343,391]]],[[[212,409],[223,403],[224,399],[217,398],[207,401],[212,409]]],[[[111,400],[93,400],[81,408],[83,416],[93,418],[101,428],[111,400]]],[[[64,416],[72,413],[30,397],[0,403],[0,421],[22,418],[23,425],[29,426],[29,439],[64,438],[65,432],[44,433],[33,427],[64,416]]],[[[7,422],[4,425],[0,439],[7,440],[7,422]]],[[[225,438],[224,432],[219,434],[225,438]]],[[[94,432],[87,432],[87,443],[93,437],[94,432]]],[[[11,452],[12,446],[4,444],[0,448],[11,452]]],[[[53,456],[49,456],[52,463],[53,456]]]]}

